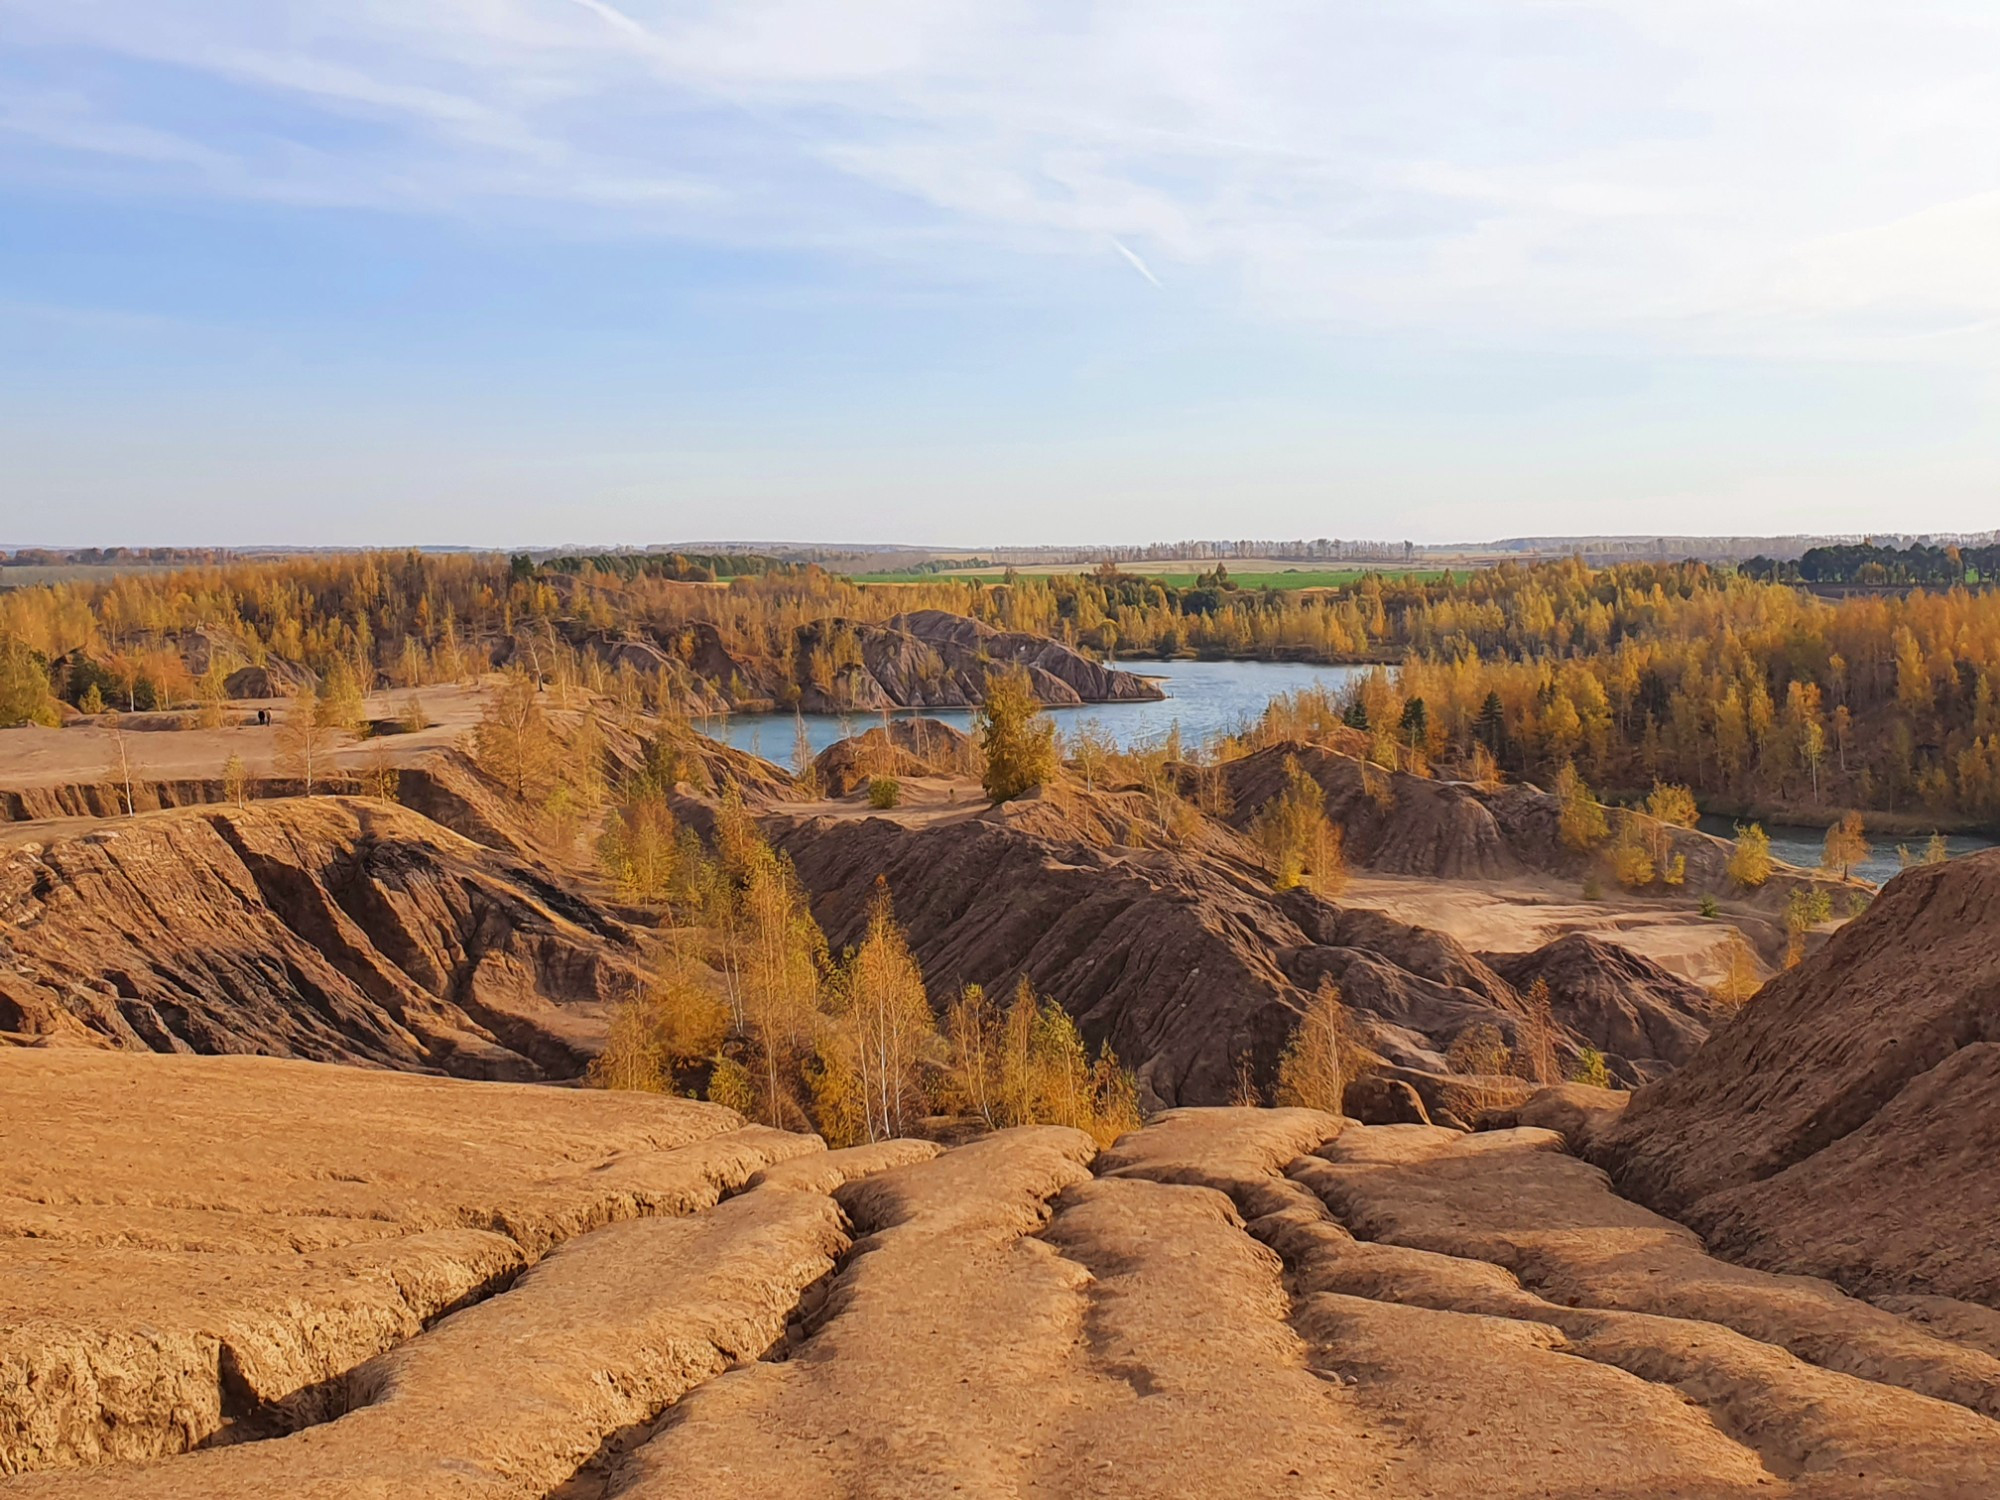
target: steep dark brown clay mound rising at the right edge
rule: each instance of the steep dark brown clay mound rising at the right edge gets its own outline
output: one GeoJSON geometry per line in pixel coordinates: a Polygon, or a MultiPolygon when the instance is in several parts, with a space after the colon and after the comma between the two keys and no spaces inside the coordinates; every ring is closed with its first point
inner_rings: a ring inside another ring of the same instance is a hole
{"type": "Polygon", "coordinates": [[[1730,1258],[2000,1308],[2000,854],[1906,870],[1592,1154],[1730,1258]]]}

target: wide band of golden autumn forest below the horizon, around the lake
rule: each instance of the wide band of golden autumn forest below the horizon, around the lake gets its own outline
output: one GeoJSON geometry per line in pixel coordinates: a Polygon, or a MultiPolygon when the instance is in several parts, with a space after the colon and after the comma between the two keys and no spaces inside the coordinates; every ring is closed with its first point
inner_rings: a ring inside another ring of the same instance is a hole
{"type": "Polygon", "coordinates": [[[696,630],[740,660],[802,642],[838,654],[828,622],[940,608],[1100,654],[1382,662],[1400,670],[1362,686],[1360,720],[1430,760],[1544,782],[1574,764],[1614,796],[1664,780],[1718,808],[2000,820],[2000,592],[1982,588],[1822,600],[1708,564],[1574,560],[1292,592],[1174,588],[1110,564],[866,586],[810,566],[728,584],[670,572],[412,552],[10,590],[0,724],[54,722],[58,698],[92,694],[198,704],[268,658],[416,686],[518,654],[536,676],[660,706],[692,682],[696,630]],[[672,680],[580,650],[626,630],[668,650],[672,680]]]}

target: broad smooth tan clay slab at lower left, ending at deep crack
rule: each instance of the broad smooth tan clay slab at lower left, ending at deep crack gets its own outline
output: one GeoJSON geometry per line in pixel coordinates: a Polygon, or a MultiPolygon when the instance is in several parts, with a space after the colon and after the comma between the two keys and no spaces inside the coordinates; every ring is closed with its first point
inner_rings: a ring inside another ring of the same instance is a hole
{"type": "Polygon", "coordinates": [[[0,1472],[336,1414],[554,1246],[818,1150],[692,1100],[40,1048],[0,1048],[0,1472]]]}

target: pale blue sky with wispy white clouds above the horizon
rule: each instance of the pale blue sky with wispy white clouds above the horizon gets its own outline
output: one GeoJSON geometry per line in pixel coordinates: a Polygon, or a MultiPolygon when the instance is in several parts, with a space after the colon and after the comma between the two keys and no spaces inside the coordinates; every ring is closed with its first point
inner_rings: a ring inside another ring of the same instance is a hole
{"type": "Polygon", "coordinates": [[[0,0],[0,546],[1992,526],[1992,0],[0,0]]]}

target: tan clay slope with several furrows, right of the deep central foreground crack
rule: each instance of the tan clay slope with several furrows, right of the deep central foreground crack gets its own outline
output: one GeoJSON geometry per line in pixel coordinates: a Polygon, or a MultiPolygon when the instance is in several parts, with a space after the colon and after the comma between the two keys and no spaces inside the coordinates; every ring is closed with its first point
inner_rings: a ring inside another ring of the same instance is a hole
{"type": "Polygon", "coordinates": [[[820,1326],[610,1492],[1990,1492],[1990,1354],[1720,1266],[1558,1146],[1184,1110],[1088,1176],[1058,1132],[872,1176],[820,1326]]]}

